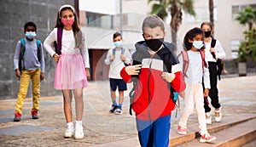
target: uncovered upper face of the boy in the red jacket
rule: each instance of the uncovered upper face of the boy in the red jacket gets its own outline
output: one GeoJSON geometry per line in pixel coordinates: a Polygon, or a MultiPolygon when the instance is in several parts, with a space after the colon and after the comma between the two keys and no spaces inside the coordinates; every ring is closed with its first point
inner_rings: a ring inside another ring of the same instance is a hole
{"type": "Polygon", "coordinates": [[[145,27],[145,30],[143,32],[143,37],[145,40],[160,39],[164,38],[165,36],[166,33],[161,30],[160,26],[156,26],[154,28],[145,27]]]}

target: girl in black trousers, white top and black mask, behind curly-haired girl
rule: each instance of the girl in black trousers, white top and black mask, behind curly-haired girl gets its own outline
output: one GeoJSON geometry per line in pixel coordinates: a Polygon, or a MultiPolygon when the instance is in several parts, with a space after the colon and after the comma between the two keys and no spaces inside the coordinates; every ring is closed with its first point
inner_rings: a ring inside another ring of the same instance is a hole
{"type": "MultiPolygon", "coordinates": [[[[210,22],[203,22],[201,29],[205,33],[205,46],[206,46],[206,60],[209,65],[210,83],[211,89],[209,90],[209,97],[211,104],[215,108],[215,122],[220,122],[222,118],[221,105],[218,101],[218,72],[217,72],[217,59],[223,59],[225,57],[224,48],[222,48],[220,42],[216,40],[214,48],[211,48],[212,44],[212,24],[210,22]]],[[[205,112],[207,117],[207,124],[212,124],[211,108],[208,104],[207,97],[205,98],[205,112]]]]}

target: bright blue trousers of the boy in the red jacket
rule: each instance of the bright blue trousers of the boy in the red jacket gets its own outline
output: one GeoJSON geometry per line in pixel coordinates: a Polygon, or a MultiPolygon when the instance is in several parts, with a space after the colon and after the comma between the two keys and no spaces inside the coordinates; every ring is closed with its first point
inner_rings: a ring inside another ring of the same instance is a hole
{"type": "Polygon", "coordinates": [[[171,115],[154,121],[136,118],[138,138],[142,147],[167,147],[171,127],[171,115]]]}

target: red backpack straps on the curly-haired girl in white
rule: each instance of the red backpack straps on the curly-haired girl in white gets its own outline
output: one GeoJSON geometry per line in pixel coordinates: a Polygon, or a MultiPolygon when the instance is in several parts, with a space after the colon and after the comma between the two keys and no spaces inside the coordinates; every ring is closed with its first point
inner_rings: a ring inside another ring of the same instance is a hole
{"type": "MultiPolygon", "coordinates": [[[[204,67],[207,67],[207,62],[206,62],[206,55],[205,55],[205,50],[200,49],[199,53],[201,54],[201,60],[202,60],[202,70],[204,71],[204,67]]],[[[179,57],[180,55],[183,56],[183,76],[187,76],[187,71],[189,68],[189,56],[188,56],[188,52],[183,50],[181,51],[180,54],[177,55],[177,57],[179,57]]]]}

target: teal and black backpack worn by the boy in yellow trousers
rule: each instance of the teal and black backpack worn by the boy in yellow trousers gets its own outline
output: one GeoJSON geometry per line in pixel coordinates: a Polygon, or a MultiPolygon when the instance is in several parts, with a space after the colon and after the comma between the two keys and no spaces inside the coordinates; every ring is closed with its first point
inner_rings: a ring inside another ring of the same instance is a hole
{"type": "MultiPolygon", "coordinates": [[[[19,71],[20,71],[20,75],[21,75],[21,71],[24,70],[24,54],[26,51],[26,44],[25,44],[25,39],[21,38],[20,39],[20,44],[21,44],[21,49],[20,49],[20,57],[19,57],[19,71]],[[22,68],[23,65],[23,68],[22,68]]],[[[41,54],[41,42],[39,40],[37,40],[37,47],[38,47],[38,61],[40,62],[42,54],[41,54]]]]}

